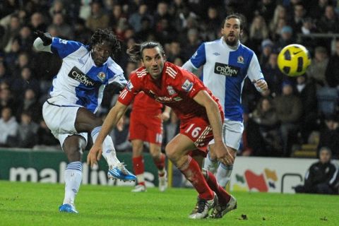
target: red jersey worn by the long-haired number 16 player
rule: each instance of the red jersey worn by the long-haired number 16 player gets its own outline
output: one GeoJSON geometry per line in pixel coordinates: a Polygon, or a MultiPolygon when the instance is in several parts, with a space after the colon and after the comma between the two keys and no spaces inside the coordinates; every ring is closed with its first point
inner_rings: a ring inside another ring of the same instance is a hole
{"type": "MultiPolygon", "coordinates": [[[[157,102],[171,107],[181,120],[201,117],[208,121],[205,107],[193,100],[200,90],[206,90],[213,100],[218,102],[218,99],[193,73],[165,62],[160,80],[154,80],[145,67],[131,73],[130,81],[119,95],[118,100],[124,105],[129,105],[133,97],[143,91],[157,102]]],[[[218,107],[222,112],[219,102],[218,107]]]]}

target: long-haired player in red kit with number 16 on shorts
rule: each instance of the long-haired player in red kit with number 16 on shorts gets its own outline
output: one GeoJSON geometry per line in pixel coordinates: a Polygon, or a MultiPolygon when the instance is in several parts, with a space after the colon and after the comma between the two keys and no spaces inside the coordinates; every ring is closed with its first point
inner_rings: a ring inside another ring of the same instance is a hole
{"type": "Polygon", "coordinates": [[[88,164],[97,164],[102,153],[102,141],[126,111],[133,97],[141,91],[167,105],[180,119],[180,133],[166,145],[169,160],[184,174],[198,191],[198,202],[189,215],[192,219],[208,216],[208,211],[225,207],[222,215],[237,207],[236,201],[219,186],[213,174],[203,174],[201,165],[206,157],[208,142],[214,138],[215,154],[220,162],[232,164],[234,157],[222,142],[222,107],[210,90],[193,73],[165,61],[165,52],[157,42],[134,44],[129,49],[132,59],[143,67],[130,77],[109,111],[97,140],[88,153],[88,164]]]}

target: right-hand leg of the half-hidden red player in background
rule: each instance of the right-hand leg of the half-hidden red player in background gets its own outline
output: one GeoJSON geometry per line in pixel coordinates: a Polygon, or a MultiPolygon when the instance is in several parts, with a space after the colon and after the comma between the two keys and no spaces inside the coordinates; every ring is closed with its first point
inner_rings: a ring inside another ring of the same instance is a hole
{"type": "Polygon", "coordinates": [[[157,176],[159,179],[159,190],[165,191],[167,189],[167,173],[165,169],[166,155],[161,153],[161,146],[158,143],[150,143],[150,155],[157,167],[157,176]]]}

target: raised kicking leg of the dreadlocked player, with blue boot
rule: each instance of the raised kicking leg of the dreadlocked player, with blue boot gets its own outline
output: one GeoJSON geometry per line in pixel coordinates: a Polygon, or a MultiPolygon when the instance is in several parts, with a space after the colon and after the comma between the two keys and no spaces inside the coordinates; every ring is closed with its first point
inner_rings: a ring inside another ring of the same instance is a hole
{"type": "MultiPolygon", "coordinates": [[[[95,142],[99,132],[101,131],[102,119],[98,118],[90,112],[88,109],[83,107],[78,109],[76,113],[75,129],[80,132],[88,132],[92,136],[93,142],[95,142]]],[[[102,143],[102,156],[105,157],[109,165],[109,171],[107,173],[110,179],[122,179],[122,180],[136,180],[136,176],[131,174],[124,164],[121,163],[117,158],[112,138],[106,136],[102,143]]]]}

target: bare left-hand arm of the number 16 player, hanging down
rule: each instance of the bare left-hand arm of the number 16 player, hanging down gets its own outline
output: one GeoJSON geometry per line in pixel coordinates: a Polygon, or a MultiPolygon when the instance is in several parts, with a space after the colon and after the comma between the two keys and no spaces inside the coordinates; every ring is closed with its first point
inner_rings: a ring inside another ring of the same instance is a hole
{"type": "Polygon", "coordinates": [[[115,126],[119,119],[124,115],[127,107],[128,106],[117,101],[117,104],[112,107],[107,114],[107,117],[102,124],[102,129],[97,136],[97,140],[93,144],[93,147],[90,148],[90,153],[88,153],[87,156],[87,164],[91,167],[93,167],[93,165],[97,165],[97,161],[100,160],[102,153],[102,142],[104,142],[105,137],[108,135],[109,131],[112,130],[113,126],[115,126]]]}

